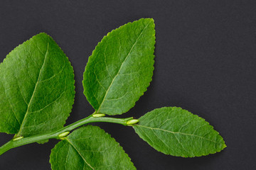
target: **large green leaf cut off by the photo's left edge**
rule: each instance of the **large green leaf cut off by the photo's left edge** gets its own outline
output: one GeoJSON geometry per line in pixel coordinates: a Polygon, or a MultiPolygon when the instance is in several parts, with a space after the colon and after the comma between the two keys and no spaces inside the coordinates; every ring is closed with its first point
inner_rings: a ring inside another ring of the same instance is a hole
{"type": "Polygon", "coordinates": [[[23,42],[0,64],[0,132],[26,137],[62,128],[74,83],[68,57],[49,35],[23,42]]]}

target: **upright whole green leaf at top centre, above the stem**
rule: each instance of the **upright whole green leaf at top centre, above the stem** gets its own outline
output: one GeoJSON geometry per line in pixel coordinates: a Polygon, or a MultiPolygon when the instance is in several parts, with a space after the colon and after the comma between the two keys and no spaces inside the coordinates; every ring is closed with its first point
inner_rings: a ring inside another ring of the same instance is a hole
{"type": "Polygon", "coordinates": [[[112,30],[85,67],[84,94],[97,113],[129,111],[149,86],[154,70],[154,20],[142,18],[112,30]]]}

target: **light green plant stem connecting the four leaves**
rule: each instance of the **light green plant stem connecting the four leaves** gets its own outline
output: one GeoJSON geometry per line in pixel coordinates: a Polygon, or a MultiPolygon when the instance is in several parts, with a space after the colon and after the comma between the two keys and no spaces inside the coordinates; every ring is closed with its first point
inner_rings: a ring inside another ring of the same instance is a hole
{"type": "Polygon", "coordinates": [[[127,121],[132,119],[133,119],[132,117],[131,118],[109,118],[109,117],[95,118],[95,117],[92,117],[92,115],[90,115],[87,118],[78,120],[77,122],[67,125],[64,128],[61,128],[60,130],[56,130],[55,132],[50,132],[42,135],[35,135],[31,137],[23,137],[20,140],[15,140],[14,138],[9,142],[7,142],[5,145],[0,147],[0,155],[4,154],[4,152],[7,152],[9,149],[12,149],[14,147],[20,147],[22,145],[27,145],[33,142],[40,142],[42,140],[48,140],[48,139],[60,140],[61,137],[59,137],[58,135],[62,134],[63,132],[70,132],[71,130],[74,130],[75,128],[78,128],[87,123],[107,122],[107,123],[118,123],[121,125],[127,125],[127,121]]]}

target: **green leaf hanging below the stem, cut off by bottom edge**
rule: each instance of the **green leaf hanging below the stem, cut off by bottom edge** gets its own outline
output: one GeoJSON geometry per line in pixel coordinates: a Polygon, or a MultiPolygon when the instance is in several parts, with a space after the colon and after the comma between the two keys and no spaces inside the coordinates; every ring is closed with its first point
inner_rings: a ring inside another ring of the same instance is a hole
{"type": "Polygon", "coordinates": [[[50,154],[53,170],[136,169],[114,138],[97,126],[87,125],[58,142],[50,154]]]}

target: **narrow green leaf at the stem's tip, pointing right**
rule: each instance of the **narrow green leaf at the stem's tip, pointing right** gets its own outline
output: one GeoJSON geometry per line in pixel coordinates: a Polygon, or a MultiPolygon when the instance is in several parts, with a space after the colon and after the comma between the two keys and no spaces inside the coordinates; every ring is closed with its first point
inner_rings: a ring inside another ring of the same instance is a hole
{"type": "Polygon", "coordinates": [[[206,120],[181,108],[155,109],[139,118],[133,128],[151,147],[177,157],[200,157],[226,147],[206,120]]]}

